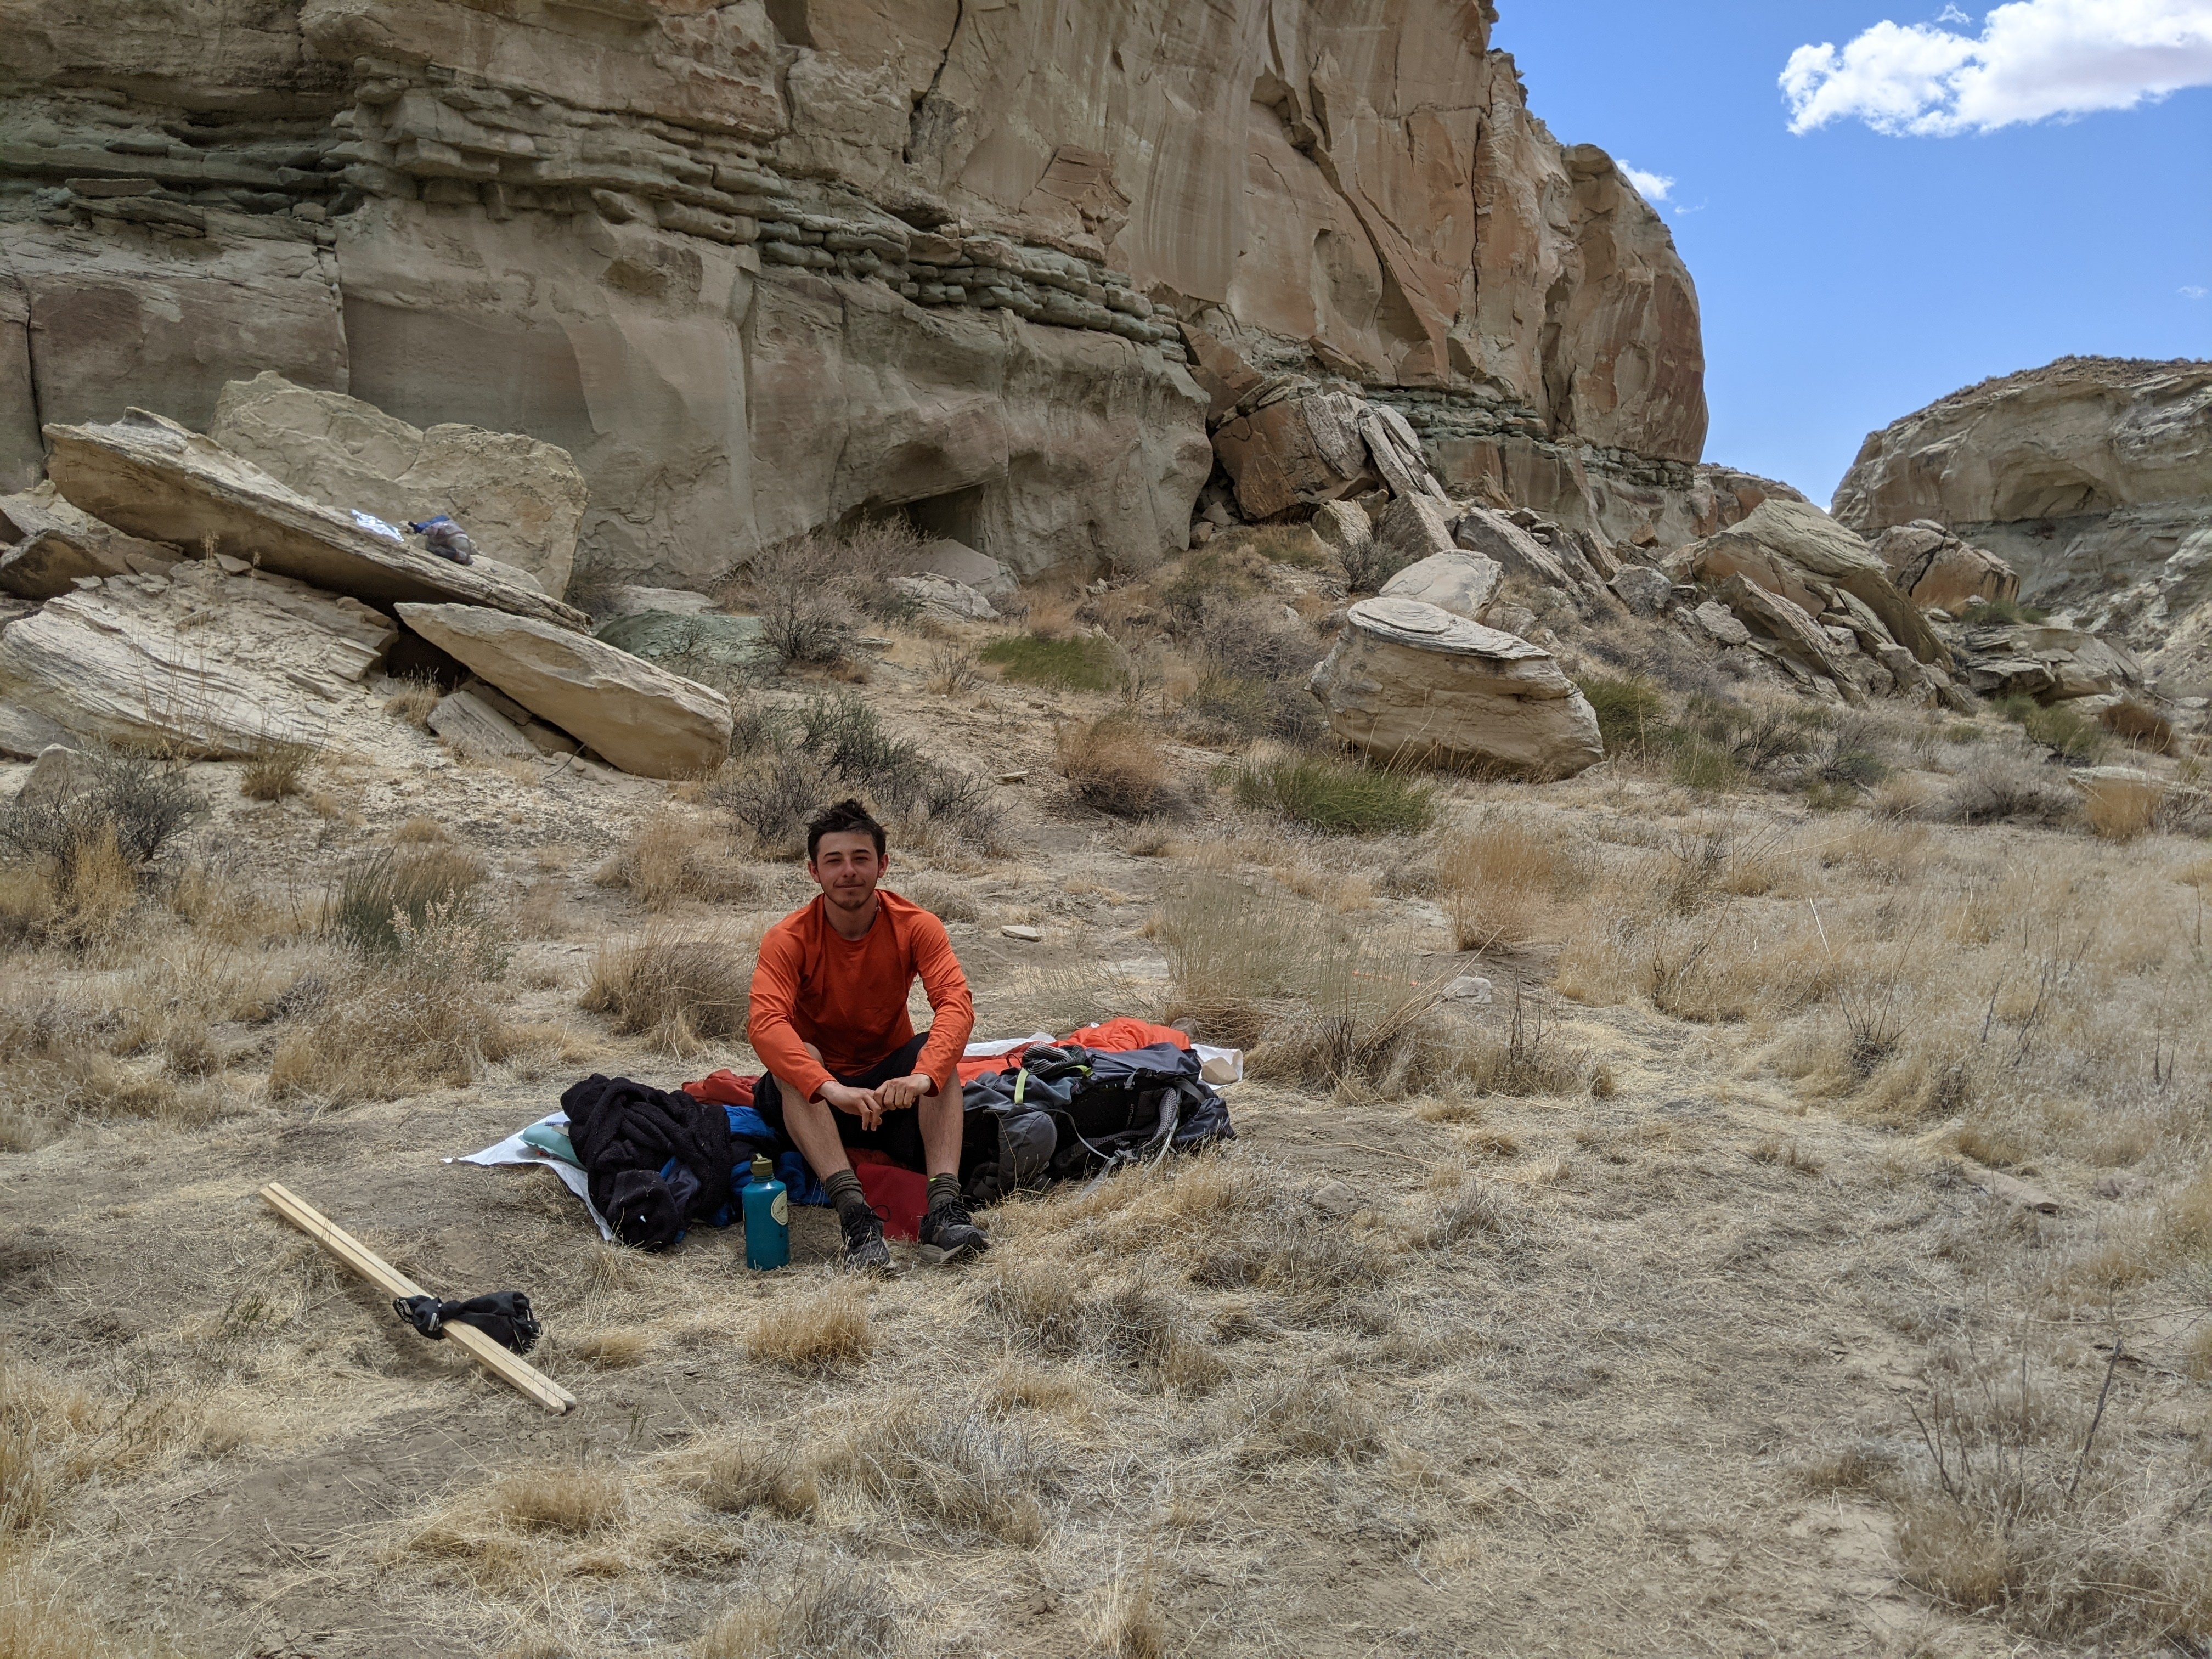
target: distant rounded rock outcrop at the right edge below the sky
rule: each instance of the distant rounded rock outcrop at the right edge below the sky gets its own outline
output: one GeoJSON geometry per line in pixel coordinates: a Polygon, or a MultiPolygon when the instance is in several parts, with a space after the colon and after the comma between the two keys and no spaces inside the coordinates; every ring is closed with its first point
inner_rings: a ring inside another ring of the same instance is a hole
{"type": "Polygon", "coordinates": [[[2212,679],[2212,363],[2059,358],[1876,431],[1836,491],[1863,533],[1947,529],[2020,597],[2212,679]]]}

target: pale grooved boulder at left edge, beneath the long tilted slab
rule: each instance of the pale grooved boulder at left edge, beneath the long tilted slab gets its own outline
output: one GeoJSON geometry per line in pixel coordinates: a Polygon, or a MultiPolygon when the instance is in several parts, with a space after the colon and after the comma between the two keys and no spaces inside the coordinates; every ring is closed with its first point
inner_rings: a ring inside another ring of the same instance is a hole
{"type": "Polygon", "coordinates": [[[0,699],[82,739],[215,759],[268,743],[374,752],[365,690],[398,637],[358,599],[217,562],[115,575],[0,633],[0,699]]]}

